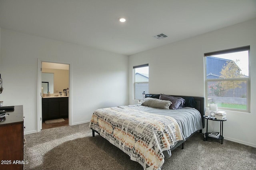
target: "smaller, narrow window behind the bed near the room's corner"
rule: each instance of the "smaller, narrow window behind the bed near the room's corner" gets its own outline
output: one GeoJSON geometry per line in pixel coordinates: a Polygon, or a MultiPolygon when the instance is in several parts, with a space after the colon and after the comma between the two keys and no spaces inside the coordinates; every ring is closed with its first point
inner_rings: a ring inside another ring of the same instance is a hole
{"type": "Polygon", "coordinates": [[[133,67],[134,99],[142,100],[142,93],[148,94],[148,64],[133,67]]]}

